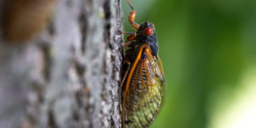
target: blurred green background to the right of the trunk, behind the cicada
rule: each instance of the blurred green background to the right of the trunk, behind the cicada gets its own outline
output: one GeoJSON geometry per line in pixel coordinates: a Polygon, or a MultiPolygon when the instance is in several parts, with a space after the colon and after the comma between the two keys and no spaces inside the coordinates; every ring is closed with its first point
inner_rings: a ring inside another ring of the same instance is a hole
{"type": "Polygon", "coordinates": [[[156,27],[167,83],[151,128],[256,128],[256,1],[130,2],[156,27]]]}

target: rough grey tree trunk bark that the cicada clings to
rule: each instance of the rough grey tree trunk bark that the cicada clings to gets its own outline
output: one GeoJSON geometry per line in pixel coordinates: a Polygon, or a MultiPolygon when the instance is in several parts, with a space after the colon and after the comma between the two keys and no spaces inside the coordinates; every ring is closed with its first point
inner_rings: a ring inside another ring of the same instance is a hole
{"type": "MultiPolygon", "coordinates": [[[[26,30],[40,21],[33,20],[43,12],[36,5],[17,14],[27,24],[14,17],[26,30]]],[[[0,0],[1,12],[4,6],[0,0]]],[[[3,23],[8,12],[0,14],[0,127],[120,127],[120,0],[58,0],[51,7],[51,21],[32,36],[12,28],[22,38],[5,36],[13,19],[3,23]]]]}

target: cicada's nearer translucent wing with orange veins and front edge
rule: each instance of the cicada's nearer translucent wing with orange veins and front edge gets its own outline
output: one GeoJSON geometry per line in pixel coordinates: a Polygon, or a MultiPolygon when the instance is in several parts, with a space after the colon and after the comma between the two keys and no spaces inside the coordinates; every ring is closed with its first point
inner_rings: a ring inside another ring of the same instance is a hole
{"type": "MultiPolygon", "coordinates": [[[[149,127],[155,120],[163,96],[164,86],[159,68],[149,49],[140,49],[127,77],[123,99],[123,126],[126,128],[149,127]],[[157,71],[156,71],[156,68],[157,71]],[[160,86],[160,87],[158,87],[160,86]]],[[[163,75],[162,75],[163,76],[163,75]]]]}

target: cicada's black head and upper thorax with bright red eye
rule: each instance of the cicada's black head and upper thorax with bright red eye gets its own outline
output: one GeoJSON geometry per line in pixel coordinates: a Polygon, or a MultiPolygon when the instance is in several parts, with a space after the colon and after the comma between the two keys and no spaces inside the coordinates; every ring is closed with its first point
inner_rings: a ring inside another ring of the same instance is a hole
{"type": "Polygon", "coordinates": [[[152,55],[157,60],[157,53],[158,53],[158,41],[156,37],[156,31],[154,24],[150,22],[143,22],[139,29],[136,31],[136,37],[134,40],[136,40],[138,43],[144,44],[148,43],[150,45],[150,49],[152,52],[152,55]]]}

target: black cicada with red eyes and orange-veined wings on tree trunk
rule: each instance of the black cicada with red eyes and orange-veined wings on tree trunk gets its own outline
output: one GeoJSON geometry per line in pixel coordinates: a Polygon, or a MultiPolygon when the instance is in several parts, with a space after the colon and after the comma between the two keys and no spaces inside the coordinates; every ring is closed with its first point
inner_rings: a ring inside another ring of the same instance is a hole
{"type": "Polygon", "coordinates": [[[155,120],[163,104],[165,79],[162,62],[158,56],[158,41],[154,24],[146,21],[138,25],[134,22],[136,12],[132,8],[128,15],[129,24],[136,30],[124,43],[125,68],[121,83],[123,87],[122,126],[128,128],[149,127],[155,120]]]}

